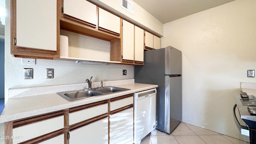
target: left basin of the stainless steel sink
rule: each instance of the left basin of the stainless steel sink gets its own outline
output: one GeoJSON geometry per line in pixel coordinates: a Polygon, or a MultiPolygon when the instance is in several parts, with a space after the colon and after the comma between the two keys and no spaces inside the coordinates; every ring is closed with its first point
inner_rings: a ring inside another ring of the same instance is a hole
{"type": "Polygon", "coordinates": [[[93,96],[100,96],[102,92],[95,90],[80,90],[80,91],[69,91],[69,92],[58,92],[58,95],[62,96],[68,101],[80,100],[83,98],[91,98],[93,96]]]}

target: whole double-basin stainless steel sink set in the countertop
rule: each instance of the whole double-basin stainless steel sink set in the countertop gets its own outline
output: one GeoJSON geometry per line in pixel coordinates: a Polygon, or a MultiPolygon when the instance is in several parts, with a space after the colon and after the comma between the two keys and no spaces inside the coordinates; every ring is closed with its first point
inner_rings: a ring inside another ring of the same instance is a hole
{"type": "Polygon", "coordinates": [[[68,101],[80,100],[84,98],[91,98],[94,96],[102,96],[105,94],[116,93],[130,90],[127,88],[118,88],[114,86],[106,86],[104,88],[92,88],[84,90],[75,90],[68,92],[58,92],[57,94],[68,101]]]}

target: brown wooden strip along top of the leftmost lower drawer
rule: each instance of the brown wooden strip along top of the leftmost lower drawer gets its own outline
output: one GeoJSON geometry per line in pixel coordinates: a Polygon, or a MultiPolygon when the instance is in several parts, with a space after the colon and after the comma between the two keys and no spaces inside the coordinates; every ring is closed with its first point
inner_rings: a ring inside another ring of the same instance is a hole
{"type": "Polygon", "coordinates": [[[59,111],[59,112],[53,112],[53,113],[48,113],[48,114],[41,114],[39,116],[33,116],[33,117],[28,117],[28,118],[22,118],[20,120],[14,120],[13,121],[13,128],[18,128],[21,126],[26,126],[28,124],[33,124],[36,122],[41,122],[44,120],[56,118],[59,116],[64,116],[64,111],[59,111]]]}

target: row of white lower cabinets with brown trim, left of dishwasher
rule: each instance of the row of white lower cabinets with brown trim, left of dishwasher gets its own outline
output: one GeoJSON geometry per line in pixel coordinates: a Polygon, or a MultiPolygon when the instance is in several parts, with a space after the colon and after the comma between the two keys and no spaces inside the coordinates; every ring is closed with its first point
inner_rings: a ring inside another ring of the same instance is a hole
{"type": "MultiPolygon", "coordinates": [[[[126,128],[129,127],[129,132],[124,135],[126,137],[124,140],[128,140],[132,144],[133,107],[134,94],[131,93],[56,112],[5,122],[5,143],[76,144],[84,140],[88,143],[95,143],[94,136],[97,135],[96,141],[98,143],[108,144],[111,140],[118,140],[116,137],[111,138],[111,133],[118,132],[126,123],[125,126],[126,128]],[[112,109],[111,106],[113,106],[112,109]],[[116,121],[115,118],[120,117],[121,119],[116,121]],[[128,123],[130,125],[127,125],[128,123]],[[49,125],[51,126],[49,127],[49,125]],[[11,139],[12,136],[20,136],[20,139],[14,141],[11,139]],[[22,136],[28,138],[24,139],[22,136]],[[89,137],[85,138],[84,136],[89,137]],[[8,137],[10,139],[7,139],[8,137]]],[[[126,130],[126,128],[122,130],[126,130]]]]}

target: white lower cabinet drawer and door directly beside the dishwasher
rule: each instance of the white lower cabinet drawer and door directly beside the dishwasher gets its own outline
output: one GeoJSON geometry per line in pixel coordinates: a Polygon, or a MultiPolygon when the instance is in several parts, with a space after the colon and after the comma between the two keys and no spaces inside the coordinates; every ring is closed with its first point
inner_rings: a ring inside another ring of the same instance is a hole
{"type": "Polygon", "coordinates": [[[133,144],[134,95],[110,99],[110,144],[133,144]]]}

